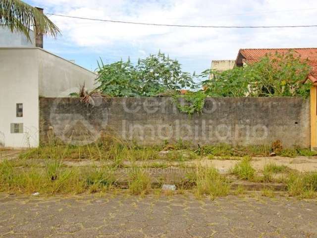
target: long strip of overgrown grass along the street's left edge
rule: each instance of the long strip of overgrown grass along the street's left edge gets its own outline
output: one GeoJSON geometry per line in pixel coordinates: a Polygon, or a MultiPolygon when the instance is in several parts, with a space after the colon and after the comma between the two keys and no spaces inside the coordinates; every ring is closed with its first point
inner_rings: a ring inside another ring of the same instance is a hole
{"type": "Polygon", "coordinates": [[[65,168],[60,161],[47,161],[42,167],[16,168],[14,162],[0,163],[0,191],[31,194],[77,194],[105,191],[113,184],[112,171],[106,168],[81,171],[65,168]]]}

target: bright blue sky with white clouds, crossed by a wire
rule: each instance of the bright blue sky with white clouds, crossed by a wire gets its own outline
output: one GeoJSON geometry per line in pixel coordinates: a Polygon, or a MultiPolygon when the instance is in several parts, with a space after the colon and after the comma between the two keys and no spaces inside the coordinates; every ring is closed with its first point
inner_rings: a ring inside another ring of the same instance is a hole
{"type": "MultiPolygon", "coordinates": [[[[80,17],[192,25],[317,24],[316,0],[25,0],[33,6],[80,17]]],[[[145,58],[159,50],[188,72],[211,60],[235,59],[240,48],[317,47],[317,28],[210,29],[140,26],[50,16],[62,35],[44,48],[94,70],[104,62],[145,58]]]]}

